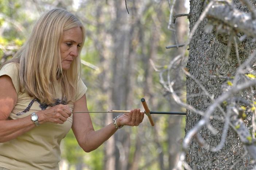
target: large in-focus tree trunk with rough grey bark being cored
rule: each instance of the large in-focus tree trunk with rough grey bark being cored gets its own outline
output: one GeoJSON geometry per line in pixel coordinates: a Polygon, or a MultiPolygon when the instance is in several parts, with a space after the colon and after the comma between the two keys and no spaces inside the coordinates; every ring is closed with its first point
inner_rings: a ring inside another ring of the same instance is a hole
{"type": "MultiPolygon", "coordinates": [[[[236,4],[238,8],[241,5],[236,4]]],[[[244,9],[244,7],[243,7],[244,9]]],[[[190,30],[203,10],[203,2],[201,0],[190,1],[190,30]]],[[[223,16],[224,18],[225,16],[223,16]]],[[[218,72],[224,76],[233,76],[238,67],[238,62],[234,51],[231,51],[228,58],[228,64],[225,62],[225,54],[227,43],[220,37],[216,37],[215,33],[206,33],[204,27],[207,19],[204,19],[199,25],[193,38],[189,44],[189,73],[192,74],[207,91],[217,98],[220,92],[220,87],[224,83],[223,79],[213,78],[211,76],[218,72]]],[[[240,60],[244,59],[255,48],[251,41],[240,44],[240,60]]],[[[232,49],[233,50],[233,49],[232,49]]],[[[187,77],[187,96],[192,94],[203,93],[201,88],[191,78],[187,77]]],[[[187,97],[187,104],[192,105],[198,110],[205,111],[209,106],[210,99],[205,96],[187,97]]],[[[220,111],[214,112],[214,116],[223,116],[220,111]]],[[[186,133],[194,127],[201,119],[201,116],[188,111],[186,117],[186,133]]],[[[223,123],[217,120],[212,120],[211,125],[218,130],[217,135],[213,135],[206,128],[199,131],[199,135],[205,139],[210,146],[217,146],[221,139],[223,123]]],[[[237,137],[237,134],[232,128],[229,128],[224,147],[218,152],[212,152],[199,146],[194,139],[190,142],[190,147],[186,152],[186,161],[192,169],[229,169],[244,154],[243,146],[237,137]]],[[[252,169],[250,158],[247,156],[236,164],[234,169],[252,169]]]]}

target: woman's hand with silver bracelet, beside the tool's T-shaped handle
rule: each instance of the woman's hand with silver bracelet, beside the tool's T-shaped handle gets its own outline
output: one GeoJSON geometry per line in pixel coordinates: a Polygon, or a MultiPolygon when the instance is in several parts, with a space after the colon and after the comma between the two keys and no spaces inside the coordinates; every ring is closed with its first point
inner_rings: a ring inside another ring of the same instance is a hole
{"type": "Polygon", "coordinates": [[[138,126],[144,118],[144,112],[140,112],[140,109],[131,110],[130,113],[125,113],[116,120],[117,126],[128,125],[138,126]]]}

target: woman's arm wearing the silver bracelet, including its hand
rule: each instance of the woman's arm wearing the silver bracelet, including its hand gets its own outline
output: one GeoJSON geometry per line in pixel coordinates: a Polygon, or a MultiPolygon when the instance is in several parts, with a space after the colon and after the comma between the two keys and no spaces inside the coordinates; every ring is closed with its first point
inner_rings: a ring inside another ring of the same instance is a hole
{"type": "MultiPolygon", "coordinates": [[[[73,112],[88,112],[85,95],[74,103],[73,112]]],[[[144,113],[140,113],[140,109],[135,109],[128,114],[123,114],[117,119],[116,123],[117,126],[137,126],[142,122],[143,117],[144,113]]],[[[110,138],[117,129],[113,123],[110,123],[104,128],[94,131],[89,113],[73,113],[72,130],[79,146],[84,151],[90,152],[97,149],[103,142],[110,138]]]]}

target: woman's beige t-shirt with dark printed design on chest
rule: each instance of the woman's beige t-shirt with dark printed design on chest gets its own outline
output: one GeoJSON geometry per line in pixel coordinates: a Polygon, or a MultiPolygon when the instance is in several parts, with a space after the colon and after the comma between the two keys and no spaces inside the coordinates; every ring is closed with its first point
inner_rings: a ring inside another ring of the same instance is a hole
{"type": "MultiPolygon", "coordinates": [[[[40,104],[40,101],[19,90],[19,65],[9,63],[0,70],[0,76],[11,77],[18,94],[18,100],[9,118],[19,119],[33,112],[48,109],[50,106],[40,104]]],[[[61,84],[55,85],[57,95],[55,104],[65,104],[62,101],[61,84]]],[[[81,98],[87,88],[80,79],[77,85],[75,100],[81,98]]],[[[69,102],[73,110],[73,103],[69,102]]],[[[60,143],[72,126],[73,115],[64,124],[44,123],[19,137],[0,143],[0,167],[10,170],[58,170],[61,159],[60,143]]]]}

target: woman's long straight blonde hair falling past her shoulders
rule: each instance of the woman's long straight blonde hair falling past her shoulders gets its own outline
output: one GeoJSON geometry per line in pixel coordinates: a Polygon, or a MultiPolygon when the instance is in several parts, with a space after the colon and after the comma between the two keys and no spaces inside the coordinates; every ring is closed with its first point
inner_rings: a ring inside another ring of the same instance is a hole
{"type": "Polygon", "coordinates": [[[61,81],[62,96],[67,102],[74,101],[78,78],[81,73],[80,53],[74,57],[68,70],[62,70],[60,41],[63,32],[74,27],[82,30],[82,44],[85,41],[85,28],[81,21],[64,9],[52,9],[36,22],[32,33],[8,62],[19,62],[20,89],[40,102],[52,104],[55,97],[54,83],[61,81]]]}

